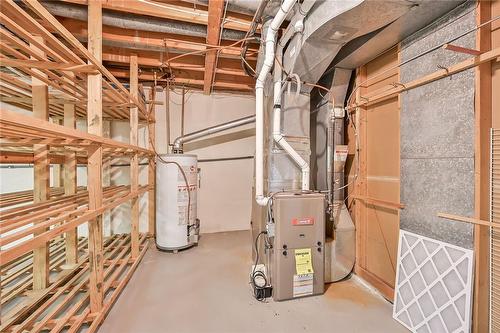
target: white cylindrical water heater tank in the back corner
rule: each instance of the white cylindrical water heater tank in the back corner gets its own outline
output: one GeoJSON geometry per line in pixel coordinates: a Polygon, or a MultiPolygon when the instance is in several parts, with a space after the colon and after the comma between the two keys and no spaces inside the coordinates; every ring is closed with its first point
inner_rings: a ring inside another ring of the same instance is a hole
{"type": "Polygon", "coordinates": [[[164,154],[157,158],[156,246],[159,249],[176,251],[198,242],[197,191],[196,155],[164,154]]]}

